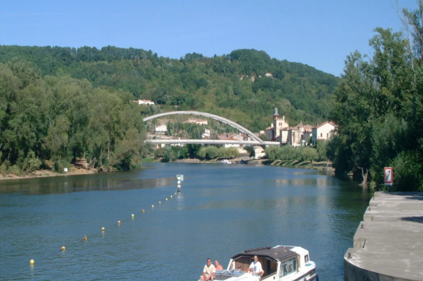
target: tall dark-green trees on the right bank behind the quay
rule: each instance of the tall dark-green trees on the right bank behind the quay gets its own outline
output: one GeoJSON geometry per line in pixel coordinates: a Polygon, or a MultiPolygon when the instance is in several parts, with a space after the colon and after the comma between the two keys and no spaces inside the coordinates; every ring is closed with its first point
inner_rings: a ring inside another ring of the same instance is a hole
{"type": "MultiPolygon", "coordinates": [[[[363,183],[362,170],[381,188],[383,168],[393,167],[393,188],[422,189],[423,172],[423,1],[415,11],[404,9],[413,46],[401,32],[376,28],[369,41],[371,59],[355,52],[346,59],[334,91],[331,119],[338,135],[327,145],[336,173],[352,171],[363,183]]],[[[320,155],[320,154],[319,154],[320,155]]]]}

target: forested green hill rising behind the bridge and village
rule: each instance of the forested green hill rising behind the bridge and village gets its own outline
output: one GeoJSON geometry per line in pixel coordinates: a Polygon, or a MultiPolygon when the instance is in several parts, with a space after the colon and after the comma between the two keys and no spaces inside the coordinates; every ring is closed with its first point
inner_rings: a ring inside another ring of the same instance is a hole
{"type": "Polygon", "coordinates": [[[94,87],[110,86],[135,98],[152,99],[160,107],[151,111],[175,107],[207,111],[253,131],[269,126],[274,107],[293,125],[300,120],[316,124],[327,119],[339,80],[308,65],[271,59],[266,52],[253,49],[169,59],[152,51],[113,46],[101,50],[0,46],[0,62],[16,59],[32,62],[43,76],[86,78],[94,87]]]}

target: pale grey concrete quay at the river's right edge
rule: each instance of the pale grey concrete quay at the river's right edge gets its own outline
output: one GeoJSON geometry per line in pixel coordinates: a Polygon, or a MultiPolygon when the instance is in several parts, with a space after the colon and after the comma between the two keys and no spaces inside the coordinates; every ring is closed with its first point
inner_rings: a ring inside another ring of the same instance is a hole
{"type": "Polygon", "coordinates": [[[376,192],[344,256],[344,281],[423,281],[423,192],[376,192]]]}

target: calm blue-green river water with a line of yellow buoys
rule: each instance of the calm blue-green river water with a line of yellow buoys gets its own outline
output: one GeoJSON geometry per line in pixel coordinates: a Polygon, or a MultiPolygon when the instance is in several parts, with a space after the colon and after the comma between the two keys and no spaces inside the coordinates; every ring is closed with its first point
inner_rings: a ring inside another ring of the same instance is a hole
{"type": "Polygon", "coordinates": [[[321,281],[343,280],[370,196],[319,171],[250,165],[1,181],[0,279],[197,280],[208,257],[226,267],[244,249],[293,245],[321,281]]]}

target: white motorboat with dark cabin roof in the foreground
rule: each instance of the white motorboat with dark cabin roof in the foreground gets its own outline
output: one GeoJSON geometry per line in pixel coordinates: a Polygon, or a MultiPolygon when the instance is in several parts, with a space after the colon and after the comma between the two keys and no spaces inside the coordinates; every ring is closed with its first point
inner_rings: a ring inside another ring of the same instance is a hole
{"type": "Polygon", "coordinates": [[[319,281],[316,263],[301,247],[275,246],[245,250],[232,256],[226,270],[218,270],[214,280],[220,281],[319,281]],[[254,256],[264,270],[263,276],[248,273],[254,256]]]}

